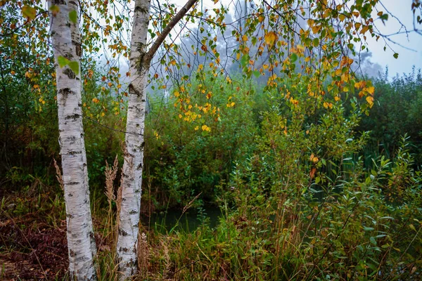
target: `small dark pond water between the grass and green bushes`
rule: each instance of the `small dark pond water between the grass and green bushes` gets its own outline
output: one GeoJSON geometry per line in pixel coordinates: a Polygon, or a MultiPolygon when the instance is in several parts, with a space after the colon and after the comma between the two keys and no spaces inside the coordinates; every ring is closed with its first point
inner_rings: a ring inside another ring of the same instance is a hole
{"type": "Polygon", "coordinates": [[[192,232],[202,223],[210,228],[215,228],[222,212],[219,207],[208,206],[202,209],[189,209],[185,213],[182,210],[160,211],[151,216],[141,216],[144,227],[156,229],[160,233],[168,233],[174,230],[192,232]]]}

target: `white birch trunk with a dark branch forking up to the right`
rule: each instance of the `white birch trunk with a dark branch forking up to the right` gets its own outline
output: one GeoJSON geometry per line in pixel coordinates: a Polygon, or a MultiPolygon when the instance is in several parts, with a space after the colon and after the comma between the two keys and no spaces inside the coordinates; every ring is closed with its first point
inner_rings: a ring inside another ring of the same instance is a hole
{"type": "Polygon", "coordinates": [[[141,209],[141,182],[143,166],[143,129],[146,109],[146,81],[151,60],[165,37],[177,22],[186,15],[198,0],[189,0],[174,15],[170,23],[162,30],[149,50],[146,50],[150,0],[135,1],[134,25],[130,53],[129,105],[125,136],[125,151],[122,176],[122,204],[117,240],[117,260],[120,268],[120,280],[125,280],[136,273],[139,230],[139,211],[141,209]]]}

